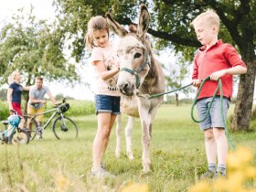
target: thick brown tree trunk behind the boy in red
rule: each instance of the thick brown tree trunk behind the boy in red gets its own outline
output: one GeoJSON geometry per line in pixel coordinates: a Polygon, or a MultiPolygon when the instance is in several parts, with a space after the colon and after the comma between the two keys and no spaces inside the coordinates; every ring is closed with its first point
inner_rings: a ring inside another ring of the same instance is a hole
{"type": "Polygon", "coordinates": [[[234,131],[249,131],[251,121],[256,66],[254,50],[248,51],[243,60],[247,65],[247,73],[240,76],[239,92],[231,123],[231,129],[234,131]]]}

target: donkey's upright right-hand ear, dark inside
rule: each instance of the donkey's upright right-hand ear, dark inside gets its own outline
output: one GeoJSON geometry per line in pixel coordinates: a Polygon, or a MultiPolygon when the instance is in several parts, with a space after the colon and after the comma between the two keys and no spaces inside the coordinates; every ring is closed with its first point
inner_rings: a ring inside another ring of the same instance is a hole
{"type": "Polygon", "coordinates": [[[137,30],[137,36],[142,38],[144,37],[145,33],[147,32],[147,29],[149,27],[149,13],[145,5],[143,4],[141,6],[141,15],[139,18],[139,25],[137,30]]]}

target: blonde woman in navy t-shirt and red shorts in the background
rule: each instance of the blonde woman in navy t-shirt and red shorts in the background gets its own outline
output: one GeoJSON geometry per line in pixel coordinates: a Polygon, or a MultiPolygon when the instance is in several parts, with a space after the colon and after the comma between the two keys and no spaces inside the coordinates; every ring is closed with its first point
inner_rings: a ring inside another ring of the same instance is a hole
{"type": "MultiPolygon", "coordinates": [[[[19,116],[23,117],[23,113],[21,112],[21,93],[23,90],[29,91],[29,87],[22,87],[22,85],[19,84],[21,76],[18,71],[12,72],[8,79],[10,84],[7,90],[9,110],[15,110],[19,116]]],[[[19,123],[19,127],[22,128],[23,125],[24,119],[22,118],[19,123]]]]}

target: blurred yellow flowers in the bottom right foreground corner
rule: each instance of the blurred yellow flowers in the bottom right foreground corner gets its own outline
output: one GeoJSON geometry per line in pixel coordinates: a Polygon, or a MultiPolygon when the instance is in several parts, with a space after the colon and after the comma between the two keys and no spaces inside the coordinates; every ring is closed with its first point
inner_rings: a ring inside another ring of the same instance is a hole
{"type": "Polygon", "coordinates": [[[228,155],[228,174],[214,180],[202,180],[189,188],[189,192],[223,191],[223,192],[255,192],[256,167],[251,165],[252,152],[239,147],[228,155]],[[254,182],[254,187],[246,187],[247,182],[254,182]]]}

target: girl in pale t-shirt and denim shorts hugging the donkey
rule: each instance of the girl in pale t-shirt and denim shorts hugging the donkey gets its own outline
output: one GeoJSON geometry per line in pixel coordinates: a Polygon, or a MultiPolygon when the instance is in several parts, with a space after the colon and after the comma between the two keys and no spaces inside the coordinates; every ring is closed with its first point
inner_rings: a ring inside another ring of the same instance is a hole
{"type": "Polygon", "coordinates": [[[94,66],[97,79],[95,111],[98,130],[92,146],[91,176],[112,176],[101,166],[101,161],[109,143],[112,125],[116,115],[120,113],[119,92],[108,90],[108,87],[112,87],[117,81],[119,65],[113,62],[115,50],[109,41],[109,28],[105,18],[91,18],[85,41],[86,47],[91,50],[90,62],[94,66]]]}

